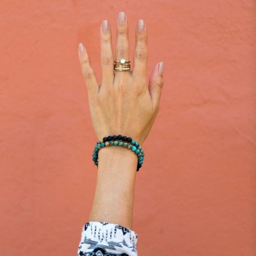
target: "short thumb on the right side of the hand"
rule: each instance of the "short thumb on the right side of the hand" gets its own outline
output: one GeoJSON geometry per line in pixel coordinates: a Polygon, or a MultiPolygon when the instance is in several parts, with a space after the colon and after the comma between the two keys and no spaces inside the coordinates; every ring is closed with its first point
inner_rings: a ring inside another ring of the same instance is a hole
{"type": "Polygon", "coordinates": [[[160,96],[163,88],[164,62],[159,62],[151,72],[149,77],[149,93],[155,108],[159,107],[160,96]]]}

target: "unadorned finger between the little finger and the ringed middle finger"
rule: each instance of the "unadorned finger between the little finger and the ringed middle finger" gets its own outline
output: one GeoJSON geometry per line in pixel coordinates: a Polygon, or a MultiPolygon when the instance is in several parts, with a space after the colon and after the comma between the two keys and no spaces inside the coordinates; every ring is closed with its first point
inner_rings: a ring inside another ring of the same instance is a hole
{"type": "Polygon", "coordinates": [[[114,56],[112,50],[112,39],[110,25],[107,20],[101,24],[101,67],[102,84],[113,84],[114,80],[114,56]]]}

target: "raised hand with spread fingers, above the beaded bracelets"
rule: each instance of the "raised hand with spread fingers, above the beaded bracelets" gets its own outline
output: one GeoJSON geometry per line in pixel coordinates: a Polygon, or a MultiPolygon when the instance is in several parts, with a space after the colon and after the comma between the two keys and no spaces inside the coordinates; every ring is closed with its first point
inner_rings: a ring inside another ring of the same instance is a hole
{"type": "MultiPolygon", "coordinates": [[[[124,12],[117,17],[116,59],[129,60],[128,22],[124,12]]],[[[142,145],[159,110],[163,87],[163,62],[146,79],[148,58],[147,30],[143,20],[136,27],[132,71],[114,73],[111,29],[101,25],[102,84],[99,85],[85,47],[78,47],[79,61],[88,90],[91,119],[98,139],[108,135],[131,137],[142,145]]]]}

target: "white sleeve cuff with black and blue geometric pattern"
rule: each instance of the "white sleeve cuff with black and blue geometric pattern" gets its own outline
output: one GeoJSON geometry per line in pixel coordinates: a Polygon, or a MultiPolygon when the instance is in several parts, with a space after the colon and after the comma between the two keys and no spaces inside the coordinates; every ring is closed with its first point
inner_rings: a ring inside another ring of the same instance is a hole
{"type": "Polygon", "coordinates": [[[137,234],[114,223],[90,221],[82,227],[78,256],[137,256],[137,234]]]}

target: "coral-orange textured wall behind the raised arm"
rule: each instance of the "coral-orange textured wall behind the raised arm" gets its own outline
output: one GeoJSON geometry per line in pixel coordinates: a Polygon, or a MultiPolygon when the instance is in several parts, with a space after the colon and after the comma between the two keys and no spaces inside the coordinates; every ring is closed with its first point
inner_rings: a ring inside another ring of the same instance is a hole
{"type": "Polygon", "coordinates": [[[136,179],[139,255],[256,255],[253,0],[1,0],[0,255],[76,255],[97,173],[77,47],[101,82],[100,25],[115,43],[119,11],[131,61],[140,18],[148,77],[165,61],[136,179]]]}

